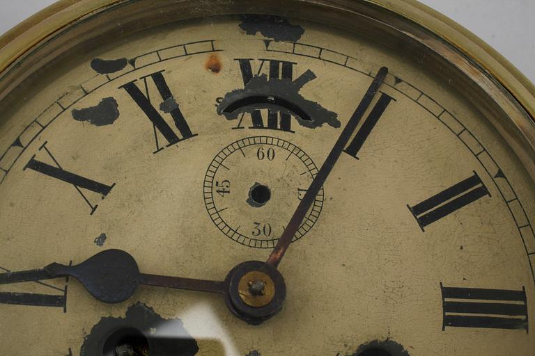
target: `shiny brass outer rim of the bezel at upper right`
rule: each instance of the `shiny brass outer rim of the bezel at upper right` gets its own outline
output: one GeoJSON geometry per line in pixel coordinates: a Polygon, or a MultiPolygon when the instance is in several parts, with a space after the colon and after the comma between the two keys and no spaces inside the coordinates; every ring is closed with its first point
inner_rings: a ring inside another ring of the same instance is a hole
{"type": "Polygon", "coordinates": [[[535,124],[535,86],[502,54],[474,33],[417,0],[365,0],[410,19],[460,49],[495,77],[525,108],[535,124]]]}

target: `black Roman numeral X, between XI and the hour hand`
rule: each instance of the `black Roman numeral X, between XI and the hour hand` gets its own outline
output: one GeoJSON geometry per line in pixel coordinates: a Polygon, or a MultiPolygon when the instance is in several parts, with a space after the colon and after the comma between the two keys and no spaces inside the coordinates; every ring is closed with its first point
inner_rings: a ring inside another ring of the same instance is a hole
{"type": "Polygon", "coordinates": [[[47,152],[48,156],[52,159],[52,161],[54,161],[56,166],[49,165],[48,163],[42,161],[38,161],[35,158],[36,156],[34,155],[33,157],[31,157],[28,163],[26,163],[26,166],[24,166],[24,170],[28,168],[43,175],[47,175],[48,177],[59,179],[61,181],[65,181],[66,183],[72,184],[72,186],[76,188],[77,192],[82,196],[84,201],[91,208],[91,214],[93,214],[97,209],[98,205],[92,204],[88,200],[88,197],[86,197],[86,195],[80,189],[82,188],[88,191],[98,193],[102,196],[102,199],[104,199],[104,197],[106,197],[111,191],[111,188],[114,188],[115,184],[111,184],[111,186],[108,186],[107,184],[102,184],[98,181],[94,181],[92,179],[88,179],[86,177],[82,177],[81,175],[77,175],[75,173],[64,170],[46,145],[47,142],[45,141],[45,143],[43,143],[41,147],[39,147],[39,150],[41,151],[42,149],[44,149],[45,152],[47,152]]]}

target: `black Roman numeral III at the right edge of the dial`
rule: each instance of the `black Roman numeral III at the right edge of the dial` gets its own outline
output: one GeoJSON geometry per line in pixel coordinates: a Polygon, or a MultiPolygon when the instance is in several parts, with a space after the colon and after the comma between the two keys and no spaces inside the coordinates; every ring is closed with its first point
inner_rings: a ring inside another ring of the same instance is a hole
{"type": "Polygon", "coordinates": [[[449,327],[524,329],[528,331],[527,299],[522,291],[445,287],[442,330],[449,327]]]}

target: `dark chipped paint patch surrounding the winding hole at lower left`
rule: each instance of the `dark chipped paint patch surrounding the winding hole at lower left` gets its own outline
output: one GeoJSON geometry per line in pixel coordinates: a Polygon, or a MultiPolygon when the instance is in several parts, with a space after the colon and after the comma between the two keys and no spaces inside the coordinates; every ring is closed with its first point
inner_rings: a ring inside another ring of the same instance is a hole
{"type": "Polygon", "coordinates": [[[124,317],[101,318],[84,337],[80,356],[102,355],[108,337],[118,330],[139,332],[148,341],[150,356],[192,356],[199,351],[197,342],[180,319],[164,319],[153,308],[137,302],[127,309],[124,317]]]}

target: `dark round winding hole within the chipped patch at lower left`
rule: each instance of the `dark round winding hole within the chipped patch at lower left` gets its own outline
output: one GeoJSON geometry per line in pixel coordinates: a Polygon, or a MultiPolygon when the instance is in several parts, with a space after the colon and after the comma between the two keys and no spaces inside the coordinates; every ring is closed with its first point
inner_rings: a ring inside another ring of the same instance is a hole
{"type": "Polygon", "coordinates": [[[104,341],[102,356],[148,355],[148,339],[133,327],[116,330],[104,341]]]}

